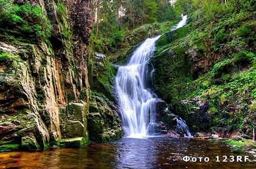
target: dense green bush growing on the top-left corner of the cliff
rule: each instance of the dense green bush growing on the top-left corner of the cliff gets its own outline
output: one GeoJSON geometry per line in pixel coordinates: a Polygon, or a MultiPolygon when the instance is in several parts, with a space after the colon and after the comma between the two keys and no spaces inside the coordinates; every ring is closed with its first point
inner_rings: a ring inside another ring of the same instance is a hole
{"type": "Polygon", "coordinates": [[[10,0],[0,0],[0,4],[0,38],[11,40],[8,34],[21,41],[41,41],[51,36],[50,21],[40,6],[17,5],[10,0]]]}

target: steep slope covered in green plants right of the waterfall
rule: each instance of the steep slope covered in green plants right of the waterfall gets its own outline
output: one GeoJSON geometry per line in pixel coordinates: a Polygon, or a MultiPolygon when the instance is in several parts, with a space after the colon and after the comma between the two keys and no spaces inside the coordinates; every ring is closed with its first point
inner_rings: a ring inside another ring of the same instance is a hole
{"type": "MultiPolygon", "coordinates": [[[[209,4],[208,4],[209,5],[209,4]]],[[[155,92],[192,131],[250,134],[255,128],[255,2],[197,9],[156,43],[155,92]]]]}

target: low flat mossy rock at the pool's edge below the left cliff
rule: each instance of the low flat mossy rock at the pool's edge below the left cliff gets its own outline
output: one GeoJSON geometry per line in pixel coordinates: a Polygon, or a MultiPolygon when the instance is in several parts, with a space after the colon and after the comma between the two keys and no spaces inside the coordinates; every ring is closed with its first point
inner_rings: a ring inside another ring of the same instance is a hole
{"type": "Polygon", "coordinates": [[[64,138],[60,140],[60,147],[81,147],[88,143],[88,137],[64,138]]]}

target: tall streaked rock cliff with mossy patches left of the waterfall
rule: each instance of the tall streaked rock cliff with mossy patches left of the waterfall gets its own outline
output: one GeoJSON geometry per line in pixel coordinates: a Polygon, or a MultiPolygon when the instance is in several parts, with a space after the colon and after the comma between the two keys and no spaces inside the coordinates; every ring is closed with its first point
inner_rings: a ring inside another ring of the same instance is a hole
{"type": "MultiPolygon", "coordinates": [[[[104,132],[121,133],[119,117],[104,100],[106,93],[103,99],[91,97],[89,82],[97,73],[89,70],[96,56],[88,49],[94,21],[91,1],[0,3],[0,150],[87,143],[90,134],[99,134],[93,123],[87,128],[94,104],[101,107],[92,112],[100,114],[99,120],[107,114],[117,121],[106,129],[101,126],[104,132]]],[[[121,137],[117,135],[113,139],[121,137]]]]}

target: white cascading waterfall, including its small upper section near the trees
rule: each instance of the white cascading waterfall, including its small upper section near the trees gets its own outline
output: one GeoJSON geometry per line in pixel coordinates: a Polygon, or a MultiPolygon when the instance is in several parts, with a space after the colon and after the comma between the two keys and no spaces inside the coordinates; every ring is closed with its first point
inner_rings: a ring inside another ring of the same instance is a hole
{"type": "MultiPolygon", "coordinates": [[[[186,15],[175,26],[186,24],[186,15]]],[[[155,42],[160,36],[148,38],[137,48],[126,66],[120,66],[116,76],[116,94],[122,113],[126,136],[143,138],[154,133],[156,121],[156,97],[147,89],[147,63],[155,51],[155,42]]]]}

